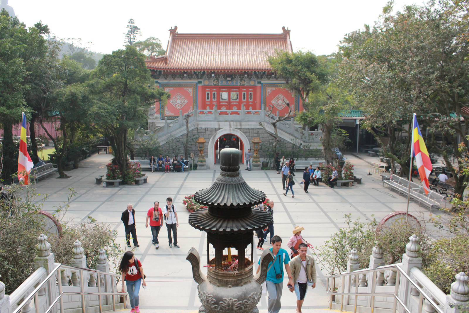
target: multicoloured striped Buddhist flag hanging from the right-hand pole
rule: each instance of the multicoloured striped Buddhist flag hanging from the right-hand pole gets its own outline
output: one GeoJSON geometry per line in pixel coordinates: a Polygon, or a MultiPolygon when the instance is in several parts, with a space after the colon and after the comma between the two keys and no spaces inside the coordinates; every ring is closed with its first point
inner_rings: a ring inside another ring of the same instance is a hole
{"type": "Polygon", "coordinates": [[[415,163],[417,165],[420,179],[422,180],[422,186],[424,186],[425,194],[428,194],[430,191],[428,176],[430,176],[431,173],[431,161],[430,156],[428,155],[427,147],[424,143],[424,138],[422,137],[422,133],[418,127],[417,115],[415,113],[412,129],[413,145],[411,147],[412,153],[410,155],[411,157],[415,157],[415,163]]]}

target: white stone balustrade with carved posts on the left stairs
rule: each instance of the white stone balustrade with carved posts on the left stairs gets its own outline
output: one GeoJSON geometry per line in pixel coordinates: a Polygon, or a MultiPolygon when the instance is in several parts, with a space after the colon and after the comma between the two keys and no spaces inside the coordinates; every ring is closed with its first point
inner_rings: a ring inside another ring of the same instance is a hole
{"type": "MultiPolygon", "coordinates": [[[[38,313],[45,312],[60,293],[62,293],[61,302],[63,302],[63,309],[66,313],[83,312],[83,303],[87,312],[99,312],[99,298],[101,298],[102,311],[110,311],[114,307],[123,308],[123,305],[118,304],[119,297],[114,297],[115,302],[113,304],[112,295],[97,295],[99,292],[117,292],[117,281],[109,273],[109,263],[105,249],[99,250],[96,270],[86,269],[86,257],[84,256],[82,243],[79,240],[76,240],[71,251],[73,255],[71,266],[55,263],[51,245],[47,242],[47,236],[44,234],[38,237],[36,252],[37,256],[34,259],[36,270],[10,295],[5,294],[5,284],[0,281],[0,313],[12,313],[43,282],[45,283],[38,290],[36,296],[31,298],[26,305],[23,304],[22,313],[33,312],[33,310],[38,313]],[[53,274],[54,271],[55,275],[53,274]],[[100,272],[103,272],[103,274],[100,275],[100,272]],[[51,273],[53,276],[46,280],[46,277],[51,273]],[[80,273],[83,273],[83,277],[80,273]],[[58,286],[59,282],[60,287],[58,286]],[[83,296],[80,293],[95,294],[85,294],[83,296]]],[[[60,304],[56,303],[51,312],[59,311],[60,304]]]]}

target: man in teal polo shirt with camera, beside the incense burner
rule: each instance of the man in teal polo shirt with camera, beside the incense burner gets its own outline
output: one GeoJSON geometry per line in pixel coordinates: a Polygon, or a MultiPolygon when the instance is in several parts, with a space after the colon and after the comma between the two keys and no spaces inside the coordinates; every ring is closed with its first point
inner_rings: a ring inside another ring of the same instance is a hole
{"type": "MultiPolygon", "coordinates": [[[[270,251],[273,253],[274,260],[269,263],[269,267],[267,270],[267,278],[265,279],[265,284],[267,285],[267,292],[269,293],[269,299],[267,300],[268,303],[268,313],[279,313],[281,304],[280,298],[282,297],[282,288],[283,288],[283,267],[282,263],[285,266],[285,272],[288,275],[288,283],[287,285],[293,286],[293,278],[290,273],[290,265],[288,262],[290,261],[290,257],[288,256],[288,252],[285,249],[280,248],[282,245],[282,238],[279,236],[272,237],[271,240],[272,248],[270,251]],[[273,264],[273,265],[272,265],[273,264]]],[[[257,264],[260,264],[257,262],[257,264]]],[[[257,267],[257,272],[259,272],[260,266],[257,267]]]]}

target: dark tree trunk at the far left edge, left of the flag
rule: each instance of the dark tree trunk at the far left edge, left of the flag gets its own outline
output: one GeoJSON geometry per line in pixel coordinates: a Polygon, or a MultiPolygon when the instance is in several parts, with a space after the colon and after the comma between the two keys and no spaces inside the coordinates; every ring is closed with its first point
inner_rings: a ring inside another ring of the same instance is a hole
{"type": "Polygon", "coordinates": [[[1,178],[5,183],[12,181],[11,175],[15,174],[18,170],[18,149],[13,141],[13,124],[5,118],[2,121],[3,125],[3,160],[1,168],[1,178]],[[15,160],[16,156],[16,160],[15,160]]]}

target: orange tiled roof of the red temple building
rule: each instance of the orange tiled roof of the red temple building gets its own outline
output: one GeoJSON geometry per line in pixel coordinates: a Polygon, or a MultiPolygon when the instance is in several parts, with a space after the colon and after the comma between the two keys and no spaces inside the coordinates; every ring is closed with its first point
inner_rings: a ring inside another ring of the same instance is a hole
{"type": "Polygon", "coordinates": [[[292,52],[289,30],[281,34],[180,34],[170,31],[166,54],[147,68],[162,70],[270,70],[267,55],[292,52]]]}

